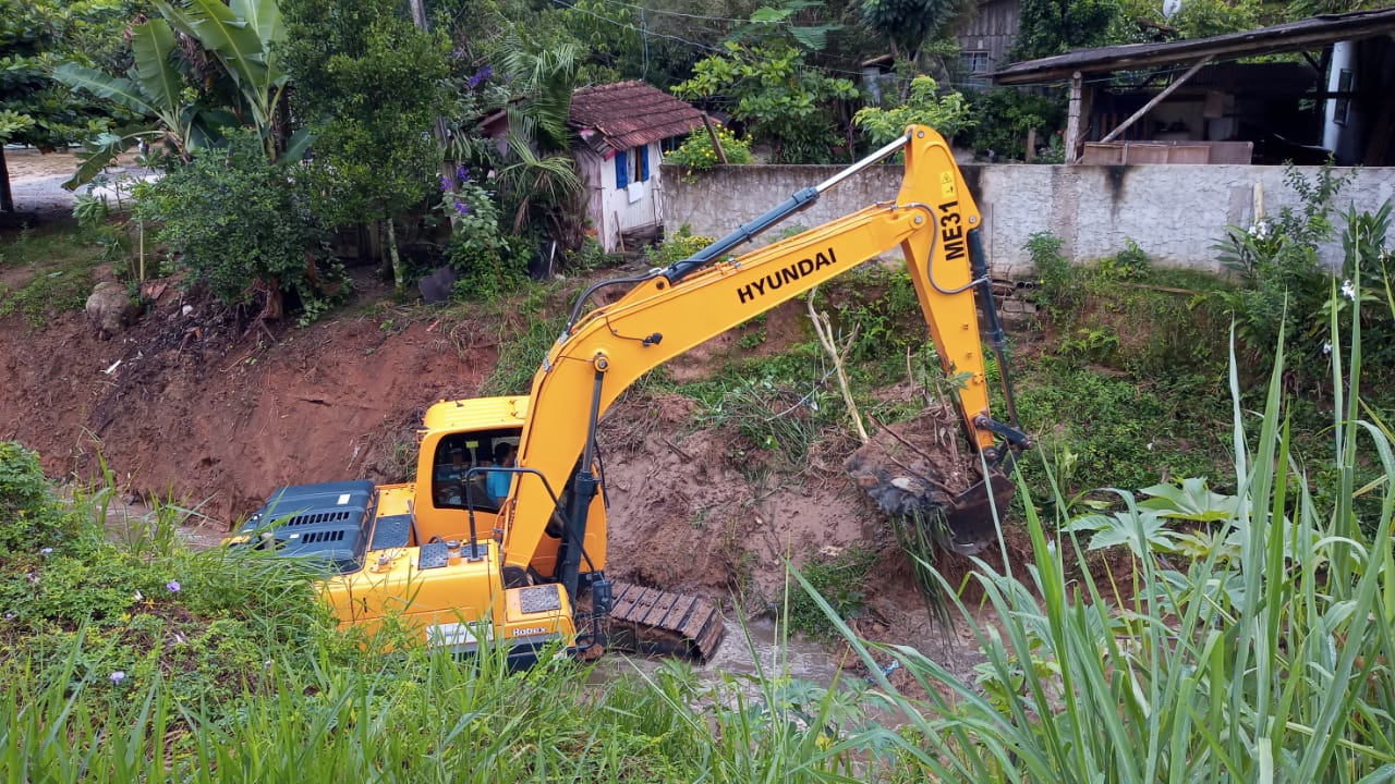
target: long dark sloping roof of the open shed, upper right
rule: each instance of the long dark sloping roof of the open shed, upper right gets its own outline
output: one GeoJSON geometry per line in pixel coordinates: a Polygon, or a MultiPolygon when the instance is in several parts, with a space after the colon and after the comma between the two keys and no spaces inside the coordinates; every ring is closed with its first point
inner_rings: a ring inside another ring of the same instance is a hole
{"type": "Polygon", "coordinates": [[[990,75],[996,84],[1057,81],[1070,78],[1076,71],[1103,74],[1147,66],[1193,63],[1204,57],[1225,59],[1228,56],[1249,57],[1278,52],[1304,52],[1338,40],[1360,39],[1392,31],[1395,31],[1395,8],[1327,14],[1211,38],[1080,49],[1055,57],[1013,63],[990,75]]]}

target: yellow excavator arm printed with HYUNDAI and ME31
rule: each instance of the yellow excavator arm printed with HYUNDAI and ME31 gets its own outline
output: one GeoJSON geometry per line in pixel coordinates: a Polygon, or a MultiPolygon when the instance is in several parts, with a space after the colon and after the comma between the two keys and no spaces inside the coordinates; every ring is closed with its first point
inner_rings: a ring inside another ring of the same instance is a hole
{"type": "MultiPolygon", "coordinates": [[[[615,282],[632,289],[608,306],[573,315],[533,379],[518,456],[526,473],[513,483],[504,509],[508,566],[527,568],[558,511],[544,483],[527,474],[548,477],[554,487],[569,478],[573,498],[568,516],[585,518],[596,487],[590,474],[596,421],[639,377],[897,247],[946,372],[968,374],[958,405],[970,441],[990,460],[997,458],[995,434],[1006,435],[1010,444],[1025,441],[1016,423],[989,416],[978,307],[992,312],[993,306],[978,300],[989,294],[976,237],[981,215],[949,145],[933,130],[912,126],[901,141],[824,186],[897,149],[904,151],[905,174],[894,202],[866,206],[739,257],[727,255],[826,190],[806,188],[689,259],[615,282]]],[[[989,324],[990,343],[995,329],[996,318],[989,324]]],[[[572,579],[564,582],[575,583],[575,566],[572,579]]]]}

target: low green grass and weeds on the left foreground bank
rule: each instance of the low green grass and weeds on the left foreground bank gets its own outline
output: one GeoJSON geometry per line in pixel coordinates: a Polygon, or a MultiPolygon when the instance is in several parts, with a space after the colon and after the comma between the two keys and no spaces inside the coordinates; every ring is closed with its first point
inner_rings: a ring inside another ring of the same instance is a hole
{"type": "Polygon", "coordinates": [[[357,639],[293,559],[190,552],[173,506],[107,541],[109,495],[50,497],[85,519],[6,557],[0,604],[10,586],[61,601],[0,621],[0,781],[858,780],[840,689],[682,663],[600,681],[559,656],[511,671],[502,647],[357,639]]]}

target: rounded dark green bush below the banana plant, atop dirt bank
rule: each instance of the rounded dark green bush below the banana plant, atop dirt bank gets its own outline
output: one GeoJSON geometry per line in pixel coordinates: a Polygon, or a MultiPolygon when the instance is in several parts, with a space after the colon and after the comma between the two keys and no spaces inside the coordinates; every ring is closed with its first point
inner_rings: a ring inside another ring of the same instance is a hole
{"type": "Polygon", "coordinates": [[[226,149],[201,151],[142,186],[137,215],[160,226],[158,240],[223,303],[294,292],[308,306],[342,286],[321,251],[325,232],[304,183],[292,173],[266,159],[255,134],[234,133],[226,149]]]}

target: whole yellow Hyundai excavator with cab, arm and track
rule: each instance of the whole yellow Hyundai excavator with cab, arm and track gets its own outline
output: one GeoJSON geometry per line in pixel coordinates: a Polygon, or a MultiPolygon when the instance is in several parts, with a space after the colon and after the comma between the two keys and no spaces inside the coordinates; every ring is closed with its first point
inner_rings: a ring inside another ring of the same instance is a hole
{"type": "MultiPolygon", "coordinates": [[[[339,481],[278,490],[232,541],[331,565],[321,593],[343,625],[385,619],[428,646],[504,644],[530,664],[548,646],[710,656],[723,635],[706,598],[605,576],[601,416],[644,372],[741,322],[897,247],[905,255],[946,372],[967,375],[958,409],[988,476],[939,511],[974,532],[1011,492],[1004,463],[1030,439],[1011,414],[1003,331],[979,241],[981,215],[950,148],[912,126],[830,180],[795,193],[700,252],[587,289],[548,350],[529,396],[444,400],[420,434],[416,481],[339,481]],[[738,246],[897,152],[896,201],[873,204],[742,255],[738,246]],[[628,290],[591,306],[603,289],[628,290]],[[989,413],[983,335],[999,354],[1009,421],[989,413]]],[[[904,512],[904,498],[882,499],[904,512]]]]}

